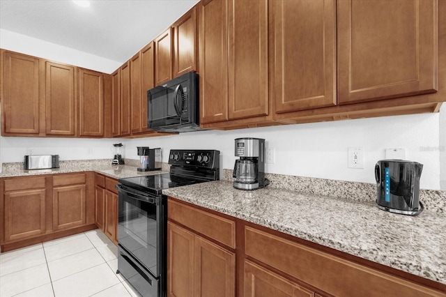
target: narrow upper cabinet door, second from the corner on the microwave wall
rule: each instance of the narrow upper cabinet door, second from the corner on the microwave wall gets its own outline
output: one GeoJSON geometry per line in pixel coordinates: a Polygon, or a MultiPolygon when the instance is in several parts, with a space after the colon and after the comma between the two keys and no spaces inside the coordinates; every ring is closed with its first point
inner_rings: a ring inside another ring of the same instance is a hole
{"type": "Polygon", "coordinates": [[[120,135],[130,135],[130,61],[121,67],[121,130],[120,135]]]}

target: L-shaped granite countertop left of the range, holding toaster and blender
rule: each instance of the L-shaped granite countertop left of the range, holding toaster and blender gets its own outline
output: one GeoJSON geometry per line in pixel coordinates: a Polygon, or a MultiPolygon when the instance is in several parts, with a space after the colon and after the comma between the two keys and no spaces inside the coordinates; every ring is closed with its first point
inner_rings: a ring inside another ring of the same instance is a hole
{"type": "Polygon", "coordinates": [[[0,178],[13,176],[32,176],[40,174],[62,174],[70,172],[98,172],[112,178],[126,178],[139,175],[153,175],[169,172],[169,167],[163,164],[162,170],[151,172],[138,172],[138,160],[125,159],[126,165],[112,165],[112,159],[104,160],[71,160],[61,161],[60,168],[24,170],[23,162],[3,164],[0,178]]]}

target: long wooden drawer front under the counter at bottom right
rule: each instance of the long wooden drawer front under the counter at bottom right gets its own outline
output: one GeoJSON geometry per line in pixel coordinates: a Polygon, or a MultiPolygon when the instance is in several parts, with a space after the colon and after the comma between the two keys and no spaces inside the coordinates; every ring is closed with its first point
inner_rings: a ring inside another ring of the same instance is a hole
{"type": "Polygon", "coordinates": [[[441,296],[400,277],[245,227],[247,256],[334,296],[441,296]]]}

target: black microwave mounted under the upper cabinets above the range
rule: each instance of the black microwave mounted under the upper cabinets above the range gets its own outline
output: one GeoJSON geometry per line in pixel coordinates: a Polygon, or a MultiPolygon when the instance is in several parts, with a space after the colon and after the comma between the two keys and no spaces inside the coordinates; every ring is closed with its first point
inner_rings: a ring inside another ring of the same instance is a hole
{"type": "Polygon", "coordinates": [[[159,132],[200,130],[197,73],[185,73],[147,91],[147,125],[159,132]]]}

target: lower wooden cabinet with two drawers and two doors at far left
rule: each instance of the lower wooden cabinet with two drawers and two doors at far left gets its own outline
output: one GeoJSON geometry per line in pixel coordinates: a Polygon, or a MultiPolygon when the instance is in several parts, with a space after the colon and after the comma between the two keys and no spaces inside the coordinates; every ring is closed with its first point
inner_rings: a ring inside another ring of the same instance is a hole
{"type": "Polygon", "coordinates": [[[0,178],[2,252],[94,229],[89,175],[93,172],[0,178]]]}

